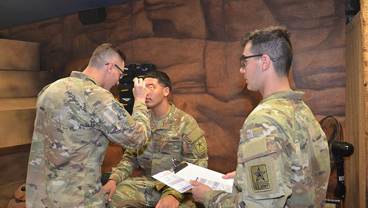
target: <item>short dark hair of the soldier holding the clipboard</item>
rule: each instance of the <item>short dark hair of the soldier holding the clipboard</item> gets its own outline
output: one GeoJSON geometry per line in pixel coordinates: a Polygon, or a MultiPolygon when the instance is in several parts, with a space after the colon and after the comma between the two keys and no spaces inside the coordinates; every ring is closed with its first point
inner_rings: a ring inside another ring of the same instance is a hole
{"type": "MultiPolygon", "coordinates": [[[[271,62],[274,65],[276,74],[279,77],[288,76],[293,51],[290,43],[290,32],[283,26],[271,26],[248,32],[241,39],[243,47],[250,42],[250,50],[256,54],[267,54],[275,59],[271,62]]],[[[255,57],[260,58],[260,57],[255,57]]]]}

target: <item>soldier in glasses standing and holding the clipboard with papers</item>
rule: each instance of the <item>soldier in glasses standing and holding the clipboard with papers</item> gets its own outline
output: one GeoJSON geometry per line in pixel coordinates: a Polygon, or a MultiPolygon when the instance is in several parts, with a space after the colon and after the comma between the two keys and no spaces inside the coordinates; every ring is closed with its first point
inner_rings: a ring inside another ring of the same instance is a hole
{"type": "Polygon", "coordinates": [[[284,27],[247,33],[240,72],[263,97],[240,130],[232,193],[191,181],[206,207],[323,207],[330,174],[327,140],[300,91],[292,91],[290,34],[284,27]]]}

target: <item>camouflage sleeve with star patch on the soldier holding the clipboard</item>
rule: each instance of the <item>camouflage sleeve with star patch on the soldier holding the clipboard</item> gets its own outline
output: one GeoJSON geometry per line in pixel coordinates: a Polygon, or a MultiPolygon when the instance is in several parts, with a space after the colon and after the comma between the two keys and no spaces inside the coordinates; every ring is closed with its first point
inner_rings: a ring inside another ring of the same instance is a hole
{"type": "Polygon", "coordinates": [[[234,186],[238,193],[209,191],[206,207],[283,207],[291,189],[291,170],[284,149],[289,131],[278,131],[279,122],[267,115],[247,118],[240,134],[234,186]],[[282,155],[282,156],[281,156],[282,155]],[[284,160],[285,161],[284,161],[284,160]],[[288,168],[287,168],[288,166],[288,168]],[[243,205],[243,206],[242,206],[243,205]]]}

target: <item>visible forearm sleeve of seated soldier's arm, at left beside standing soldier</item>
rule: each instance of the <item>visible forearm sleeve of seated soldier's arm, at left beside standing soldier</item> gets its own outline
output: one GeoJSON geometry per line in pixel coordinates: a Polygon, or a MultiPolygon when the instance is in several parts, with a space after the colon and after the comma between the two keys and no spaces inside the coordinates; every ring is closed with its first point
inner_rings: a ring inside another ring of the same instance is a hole
{"type": "Polygon", "coordinates": [[[109,180],[114,180],[118,184],[132,175],[133,171],[138,167],[137,150],[125,150],[120,163],[112,172],[109,180]]]}

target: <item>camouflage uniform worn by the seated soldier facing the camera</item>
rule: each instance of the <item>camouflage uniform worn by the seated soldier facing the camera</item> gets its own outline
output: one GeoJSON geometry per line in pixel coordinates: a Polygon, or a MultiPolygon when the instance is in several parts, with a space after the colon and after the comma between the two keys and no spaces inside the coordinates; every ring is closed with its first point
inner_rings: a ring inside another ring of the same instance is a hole
{"type": "Polygon", "coordinates": [[[150,115],[152,132],[149,142],[141,149],[126,150],[110,176],[110,180],[117,183],[117,190],[109,207],[155,206],[158,200],[169,194],[181,202],[180,207],[195,207],[191,194],[183,195],[151,177],[170,169],[172,158],[207,168],[204,131],[192,116],[175,108],[173,103],[170,105],[169,115],[157,127],[150,115]],[[142,174],[129,178],[139,166],[143,169],[142,174]]]}

